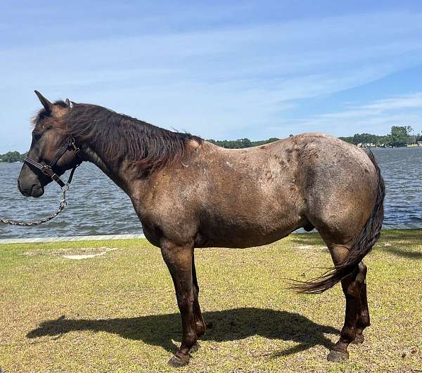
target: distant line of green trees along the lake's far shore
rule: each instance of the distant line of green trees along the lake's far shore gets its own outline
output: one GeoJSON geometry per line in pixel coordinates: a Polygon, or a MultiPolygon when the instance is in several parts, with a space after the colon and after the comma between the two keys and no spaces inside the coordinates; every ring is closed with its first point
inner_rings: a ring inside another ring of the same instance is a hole
{"type": "MultiPolygon", "coordinates": [[[[354,136],[340,137],[341,140],[347,141],[354,145],[362,144],[364,146],[385,146],[385,147],[399,147],[406,146],[416,141],[422,141],[422,133],[412,135],[413,129],[411,126],[392,126],[391,132],[388,135],[378,136],[371,133],[356,133],[354,136]]],[[[290,135],[293,136],[293,135],[290,135]]],[[[259,146],[273,141],[279,140],[279,138],[271,137],[268,140],[251,141],[249,138],[239,138],[238,140],[212,140],[210,143],[221,146],[227,149],[243,149],[251,148],[252,146],[259,146]]],[[[7,152],[6,154],[0,155],[0,162],[23,162],[27,153],[21,154],[20,152],[7,152]]]]}

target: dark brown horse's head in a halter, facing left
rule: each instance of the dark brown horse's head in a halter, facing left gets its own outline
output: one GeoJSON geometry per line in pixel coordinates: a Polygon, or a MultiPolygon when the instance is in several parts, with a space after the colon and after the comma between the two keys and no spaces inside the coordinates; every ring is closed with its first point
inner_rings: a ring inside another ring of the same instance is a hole
{"type": "Polygon", "coordinates": [[[51,103],[38,91],[35,93],[44,109],[34,119],[32,143],[27,154],[29,160],[24,162],[18,178],[18,188],[27,197],[41,197],[44,187],[52,181],[51,176],[44,174],[37,164],[43,166],[53,163],[51,174],[60,176],[80,162],[75,152],[64,148],[69,135],[65,132],[63,118],[71,110],[72,104],[69,100],[51,103]],[[56,159],[60,149],[63,149],[63,154],[56,159]]]}

